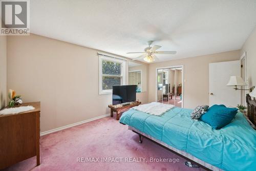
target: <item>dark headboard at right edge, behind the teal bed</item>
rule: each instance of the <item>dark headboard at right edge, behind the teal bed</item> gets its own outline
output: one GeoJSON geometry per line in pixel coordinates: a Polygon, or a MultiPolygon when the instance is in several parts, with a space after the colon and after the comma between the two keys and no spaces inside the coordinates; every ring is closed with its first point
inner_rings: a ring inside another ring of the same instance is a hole
{"type": "MultiPolygon", "coordinates": [[[[255,88],[256,89],[256,88],[255,88]]],[[[256,126],[256,100],[252,100],[249,94],[246,94],[246,103],[247,103],[247,117],[251,123],[256,126]]]]}

